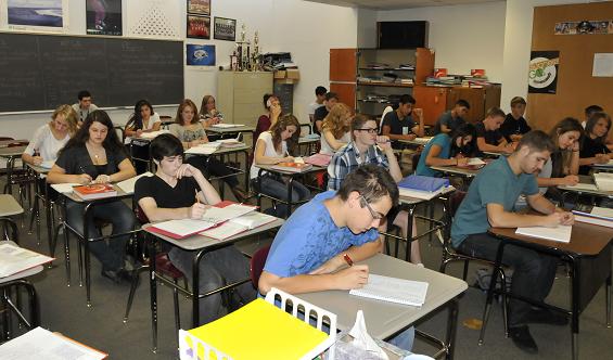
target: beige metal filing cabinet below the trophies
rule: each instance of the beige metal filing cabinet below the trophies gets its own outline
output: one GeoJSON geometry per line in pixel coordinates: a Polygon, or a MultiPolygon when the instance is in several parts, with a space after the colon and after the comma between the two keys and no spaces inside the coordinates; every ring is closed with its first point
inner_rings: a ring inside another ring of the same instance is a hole
{"type": "Polygon", "coordinates": [[[219,72],[217,106],[224,121],[256,126],[265,93],[272,93],[271,72],[219,72]]]}

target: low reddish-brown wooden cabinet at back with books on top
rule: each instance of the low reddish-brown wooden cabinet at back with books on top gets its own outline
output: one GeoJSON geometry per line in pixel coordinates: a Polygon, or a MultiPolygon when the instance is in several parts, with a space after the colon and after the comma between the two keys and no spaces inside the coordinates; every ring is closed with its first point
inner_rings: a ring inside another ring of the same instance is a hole
{"type": "Polygon", "coordinates": [[[471,104],[465,119],[475,123],[485,118],[488,108],[500,106],[500,85],[483,88],[417,86],[413,88],[413,97],[416,106],[423,108],[426,125],[436,124],[438,116],[451,110],[460,99],[471,104]]]}

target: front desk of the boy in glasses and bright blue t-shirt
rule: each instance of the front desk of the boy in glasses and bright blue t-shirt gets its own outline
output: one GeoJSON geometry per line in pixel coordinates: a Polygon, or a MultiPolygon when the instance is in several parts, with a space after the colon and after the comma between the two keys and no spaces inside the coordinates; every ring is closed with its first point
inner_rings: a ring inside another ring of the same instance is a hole
{"type": "MultiPolygon", "coordinates": [[[[454,343],[458,321],[458,295],[468,285],[464,281],[434,270],[421,268],[387,255],[375,256],[361,261],[369,266],[369,272],[414,281],[425,281],[430,285],[422,307],[399,305],[349,295],[348,291],[325,291],[298,295],[305,301],[319,306],[336,314],[340,330],[349,330],[356,321],[356,313],[362,310],[368,333],[372,337],[388,340],[407,330],[429,313],[448,307],[447,331],[442,351],[447,359],[454,357],[454,343]]],[[[425,334],[429,339],[431,335],[425,334]]]]}

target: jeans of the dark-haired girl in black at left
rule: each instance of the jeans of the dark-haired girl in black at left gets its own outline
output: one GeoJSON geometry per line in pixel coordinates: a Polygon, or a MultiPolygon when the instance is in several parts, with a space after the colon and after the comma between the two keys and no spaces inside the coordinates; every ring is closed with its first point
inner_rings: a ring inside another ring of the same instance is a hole
{"type": "MultiPolygon", "coordinates": [[[[86,203],[66,201],[66,221],[79,234],[84,233],[84,211],[86,203]]],[[[122,201],[94,205],[93,215],[88,222],[88,239],[100,237],[102,234],[95,229],[93,219],[101,219],[113,224],[113,234],[120,234],[135,229],[136,218],[132,210],[122,201]]],[[[124,256],[126,244],[130,235],[112,237],[108,240],[94,241],[89,243],[89,250],[102,263],[102,270],[113,270],[124,268],[124,256]]]]}

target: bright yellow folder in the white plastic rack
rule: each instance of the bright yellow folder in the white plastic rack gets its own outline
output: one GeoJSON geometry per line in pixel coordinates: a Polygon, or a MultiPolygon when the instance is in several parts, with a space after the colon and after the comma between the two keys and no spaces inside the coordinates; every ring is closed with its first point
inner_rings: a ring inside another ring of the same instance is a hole
{"type": "MultiPolygon", "coordinates": [[[[324,332],[261,298],[187,333],[234,360],[312,359],[325,349],[321,345],[329,338],[324,332]]],[[[188,344],[192,342],[182,331],[179,336],[188,344]]],[[[180,358],[209,359],[210,355],[204,353],[204,346],[190,346],[181,348],[180,358]],[[193,348],[199,353],[193,353],[193,348]]]]}

